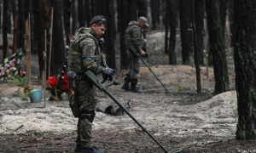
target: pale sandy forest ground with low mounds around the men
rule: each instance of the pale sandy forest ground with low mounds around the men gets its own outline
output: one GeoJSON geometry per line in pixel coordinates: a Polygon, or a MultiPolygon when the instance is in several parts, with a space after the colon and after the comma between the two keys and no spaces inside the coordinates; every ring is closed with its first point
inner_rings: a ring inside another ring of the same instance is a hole
{"type": "MultiPolygon", "coordinates": [[[[154,40],[154,43],[158,44],[159,41],[154,40]]],[[[196,94],[195,67],[154,64],[158,59],[166,62],[166,57],[162,55],[153,56],[147,61],[152,65],[152,71],[165,84],[168,93],[143,64],[138,75],[138,87],[143,88],[143,94],[125,92],[121,89],[125,76],[125,71],[122,70],[117,70],[114,77],[120,85],[111,86],[108,90],[119,102],[130,101],[130,105],[125,107],[155,137],[197,138],[183,140],[183,145],[201,145],[235,139],[237,102],[233,59],[228,59],[230,91],[218,95],[213,94],[212,67],[207,69],[206,66],[201,66],[202,92],[196,94]]],[[[37,69],[32,71],[33,74],[37,74],[37,69]]],[[[37,84],[36,76],[32,77],[32,83],[34,88],[41,88],[37,84]]],[[[67,94],[63,94],[64,100],[49,101],[50,94],[43,92],[41,102],[31,103],[29,99],[21,99],[21,88],[9,84],[0,86],[0,134],[76,132],[77,119],[70,111],[67,94]]],[[[101,103],[113,103],[113,100],[101,91],[98,92],[98,99],[101,103]]],[[[121,116],[110,116],[96,111],[93,132],[102,130],[111,133],[142,131],[125,113],[121,116]]]]}

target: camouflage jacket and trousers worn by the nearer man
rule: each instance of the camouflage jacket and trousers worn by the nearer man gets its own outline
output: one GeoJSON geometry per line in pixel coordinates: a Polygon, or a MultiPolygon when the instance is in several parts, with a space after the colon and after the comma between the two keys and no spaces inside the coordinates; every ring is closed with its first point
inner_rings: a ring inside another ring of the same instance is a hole
{"type": "MultiPolygon", "coordinates": [[[[74,89],[74,99],[75,103],[79,103],[81,112],[94,111],[96,108],[96,87],[83,76],[83,73],[86,70],[93,71],[96,74],[105,71],[105,65],[102,65],[102,58],[102,52],[94,31],[89,28],[79,29],[79,32],[75,34],[70,43],[67,65],[71,71],[79,74],[78,86],[74,89]]],[[[91,117],[91,114],[84,115],[91,117]]],[[[77,144],[80,144],[83,148],[91,148],[92,122],[86,118],[79,117],[77,128],[77,144]]]]}

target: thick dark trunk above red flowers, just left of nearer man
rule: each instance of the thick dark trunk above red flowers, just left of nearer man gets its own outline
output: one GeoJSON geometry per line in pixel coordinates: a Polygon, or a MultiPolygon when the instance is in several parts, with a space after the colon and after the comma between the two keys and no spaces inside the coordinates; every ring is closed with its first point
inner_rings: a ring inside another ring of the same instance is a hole
{"type": "Polygon", "coordinates": [[[60,3],[62,3],[62,0],[51,0],[50,3],[54,10],[52,27],[52,54],[49,65],[49,76],[52,76],[61,74],[62,66],[64,64],[66,56],[63,40],[63,26],[60,5],[60,3]]]}

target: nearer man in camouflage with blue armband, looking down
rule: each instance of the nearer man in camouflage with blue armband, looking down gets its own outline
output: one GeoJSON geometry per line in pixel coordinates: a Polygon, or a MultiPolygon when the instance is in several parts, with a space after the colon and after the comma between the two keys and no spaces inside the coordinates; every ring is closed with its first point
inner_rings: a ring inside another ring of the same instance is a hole
{"type": "Polygon", "coordinates": [[[90,70],[96,75],[103,74],[104,78],[112,79],[113,69],[103,62],[102,51],[99,46],[99,38],[106,30],[107,20],[102,15],[94,16],[89,28],[80,28],[70,42],[67,65],[69,71],[78,75],[75,77],[76,87],[73,88],[73,96],[70,100],[79,105],[79,121],[77,125],[76,152],[102,153],[91,142],[92,122],[96,115],[97,104],[96,87],[84,77],[84,71],[90,70]]]}

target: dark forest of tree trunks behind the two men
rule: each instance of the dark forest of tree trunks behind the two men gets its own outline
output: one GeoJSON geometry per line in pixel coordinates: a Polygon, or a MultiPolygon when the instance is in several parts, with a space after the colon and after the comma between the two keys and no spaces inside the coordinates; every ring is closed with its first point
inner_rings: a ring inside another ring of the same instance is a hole
{"type": "Polygon", "coordinates": [[[237,139],[256,138],[253,126],[256,122],[256,56],[253,39],[256,24],[253,1],[3,0],[1,3],[1,63],[9,57],[9,48],[13,54],[19,49],[24,54],[38,54],[39,77],[43,77],[43,73],[48,77],[60,74],[67,55],[65,46],[70,37],[79,27],[88,26],[95,14],[102,14],[108,19],[104,53],[109,67],[113,69],[117,68],[117,51],[120,54],[119,68],[128,68],[124,32],[129,21],[145,16],[151,25],[148,32],[166,31],[162,52],[169,56],[170,65],[177,64],[175,41],[179,31],[181,63],[195,65],[198,93],[201,92],[200,65],[213,66],[215,94],[229,90],[226,55],[232,54],[230,47],[234,47],[239,114],[236,136],[237,139]],[[13,46],[9,46],[9,34],[14,37],[13,46]],[[204,41],[205,36],[208,36],[207,42],[204,41]],[[204,50],[207,52],[207,62],[203,59],[204,50]],[[48,61],[46,65],[44,54],[48,61]]]}

